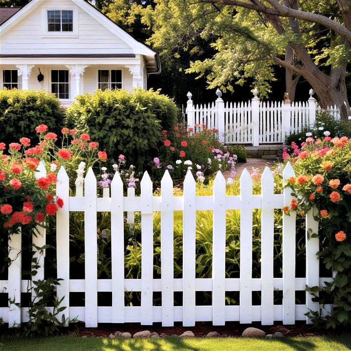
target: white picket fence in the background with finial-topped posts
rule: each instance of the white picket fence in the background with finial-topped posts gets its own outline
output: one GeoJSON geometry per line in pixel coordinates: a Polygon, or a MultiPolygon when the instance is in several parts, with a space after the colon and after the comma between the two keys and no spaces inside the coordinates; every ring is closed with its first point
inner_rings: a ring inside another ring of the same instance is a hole
{"type": "MultiPolygon", "coordinates": [[[[195,131],[204,127],[217,129],[219,140],[228,144],[282,144],[287,135],[313,126],[316,111],[322,111],[312,95],[307,103],[262,102],[257,95],[245,103],[229,103],[223,101],[219,91],[216,94],[215,103],[194,106],[189,92],[187,123],[195,131]]],[[[326,110],[335,119],[340,119],[336,106],[326,110]]]]}

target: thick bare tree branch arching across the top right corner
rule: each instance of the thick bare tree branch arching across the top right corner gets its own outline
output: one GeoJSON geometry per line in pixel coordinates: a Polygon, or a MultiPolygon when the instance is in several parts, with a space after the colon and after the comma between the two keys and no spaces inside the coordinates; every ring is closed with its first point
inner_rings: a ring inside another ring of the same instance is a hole
{"type": "Polygon", "coordinates": [[[335,33],[339,34],[341,37],[345,38],[351,43],[351,31],[343,26],[342,24],[331,20],[330,18],[315,14],[312,12],[305,12],[301,10],[295,10],[281,4],[277,0],[267,0],[273,7],[264,6],[262,3],[249,3],[240,0],[198,0],[203,3],[225,3],[227,5],[239,6],[247,8],[254,11],[259,11],[265,14],[280,16],[280,17],[292,17],[300,20],[307,20],[309,22],[315,22],[330,28],[335,33]]]}

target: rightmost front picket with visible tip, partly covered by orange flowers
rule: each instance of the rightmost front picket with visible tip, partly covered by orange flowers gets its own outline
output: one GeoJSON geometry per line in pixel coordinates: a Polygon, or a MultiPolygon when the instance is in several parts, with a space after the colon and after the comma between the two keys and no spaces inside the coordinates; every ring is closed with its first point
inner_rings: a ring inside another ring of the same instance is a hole
{"type": "MultiPolygon", "coordinates": [[[[290,162],[287,163],[283,180],[295,176],[290,162]]],[[[292,189],[287,187],[283,191],[284,206],[291,205],[292,189]]],[[[296,213],[283,213],[283,324],[295,323],[295,242],[296,242],[296,213]]]]}

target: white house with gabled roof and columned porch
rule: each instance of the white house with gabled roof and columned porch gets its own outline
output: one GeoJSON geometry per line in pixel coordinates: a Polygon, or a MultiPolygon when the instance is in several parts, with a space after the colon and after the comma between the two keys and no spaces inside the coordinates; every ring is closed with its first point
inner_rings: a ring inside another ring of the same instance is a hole
{"type": "Polygon", "coordinates": [[[85,0],[0,9],[0,88],[42,89],[62,105],[96,89],[146,89],[157,53],[85,0]]]}

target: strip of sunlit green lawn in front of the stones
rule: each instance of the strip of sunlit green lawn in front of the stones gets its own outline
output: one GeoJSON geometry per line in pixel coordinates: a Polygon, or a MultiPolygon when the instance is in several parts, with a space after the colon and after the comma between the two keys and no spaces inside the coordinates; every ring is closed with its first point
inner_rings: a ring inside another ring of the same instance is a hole
{"type": "Polygon", "coordinates": [[[283,339],[106,339],[59,336],[42,339],[0,337],[1,351],[341,351],[351,350],[351,334],[283,339]]]}

